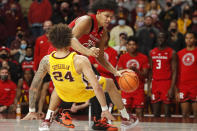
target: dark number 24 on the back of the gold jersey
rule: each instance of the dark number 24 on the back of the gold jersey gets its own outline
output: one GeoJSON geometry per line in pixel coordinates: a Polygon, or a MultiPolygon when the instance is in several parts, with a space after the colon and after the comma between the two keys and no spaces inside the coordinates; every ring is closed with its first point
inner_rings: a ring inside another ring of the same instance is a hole
{"type": "Polygon", "coordinates": [[[62,77],[62,73],[59,71],[53,72],[53,77],[57,81],[63,81],[64,79],[69,80],[70,82],[74,81],[70,71],[67,71],[64,77],[62,77]]]}

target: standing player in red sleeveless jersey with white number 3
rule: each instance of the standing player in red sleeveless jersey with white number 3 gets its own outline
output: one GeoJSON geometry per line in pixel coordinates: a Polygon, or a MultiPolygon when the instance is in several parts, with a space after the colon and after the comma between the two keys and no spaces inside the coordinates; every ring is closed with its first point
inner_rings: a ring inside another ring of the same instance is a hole
{"type": "Polygon", "coordinates": [[[158,35],[158,46],[150,51],[151,72],[149,76],[152,81],[151,102],[155,117],[160,117],[161,102],[164,104],[165,117],[170,117],[170,103],[176,82],[177,56],[176,52],[166,44],[167,34],[160,32],[158,35]]]}

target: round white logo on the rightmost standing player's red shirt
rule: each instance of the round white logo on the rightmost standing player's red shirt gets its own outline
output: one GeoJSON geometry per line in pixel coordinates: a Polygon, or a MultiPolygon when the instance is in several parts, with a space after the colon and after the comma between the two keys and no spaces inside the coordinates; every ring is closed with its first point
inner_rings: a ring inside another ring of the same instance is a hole
{"type": "Polygon", "coordinates": [[[183,56],[182,62],[185,66],[190,66],[194,63],[195,57],[192,53],[187,53],[183,56]]]}

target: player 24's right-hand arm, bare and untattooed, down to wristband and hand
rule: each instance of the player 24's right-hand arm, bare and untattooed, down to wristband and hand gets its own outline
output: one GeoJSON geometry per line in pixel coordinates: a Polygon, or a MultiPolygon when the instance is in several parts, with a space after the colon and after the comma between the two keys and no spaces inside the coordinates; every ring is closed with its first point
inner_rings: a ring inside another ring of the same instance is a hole
{"type": "Polygon", "coordinates": [[[98,80],[92,70],[91,64],[89,60],[80,55],[76,55],[74,57],[74,65],[78,73],[83,73],[85,77],[88,79],[88,82],[93,87],[93,90],[95,92],[95,95],[101,105],[102,108],[102,117],[106,117],[109,120],[115,120],[115,118],[111,115],[111,113],[108,111],[108,107],[106,104],[105,94],[103,92],[103,89],[100,87],[98,80]]]}

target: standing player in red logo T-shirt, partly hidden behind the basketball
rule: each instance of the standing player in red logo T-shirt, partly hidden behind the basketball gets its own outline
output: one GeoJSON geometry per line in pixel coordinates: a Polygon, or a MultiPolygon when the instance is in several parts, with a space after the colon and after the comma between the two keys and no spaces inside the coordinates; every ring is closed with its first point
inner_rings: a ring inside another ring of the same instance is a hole
{"type": "Polygon", "coordinates": [[[132,69],[138,74],[140,79],[138,89],[131,93],[121,91],[121,95],[127,109],[135,109],[136,115],[142,117],[144,108],[144,83],[148,75],[149,63],[148,57],[139,53],[137,47],[137,39],[132,36],[129,37],[126,44],[128,52],[120,56],[118,69],[132,69]]]}

